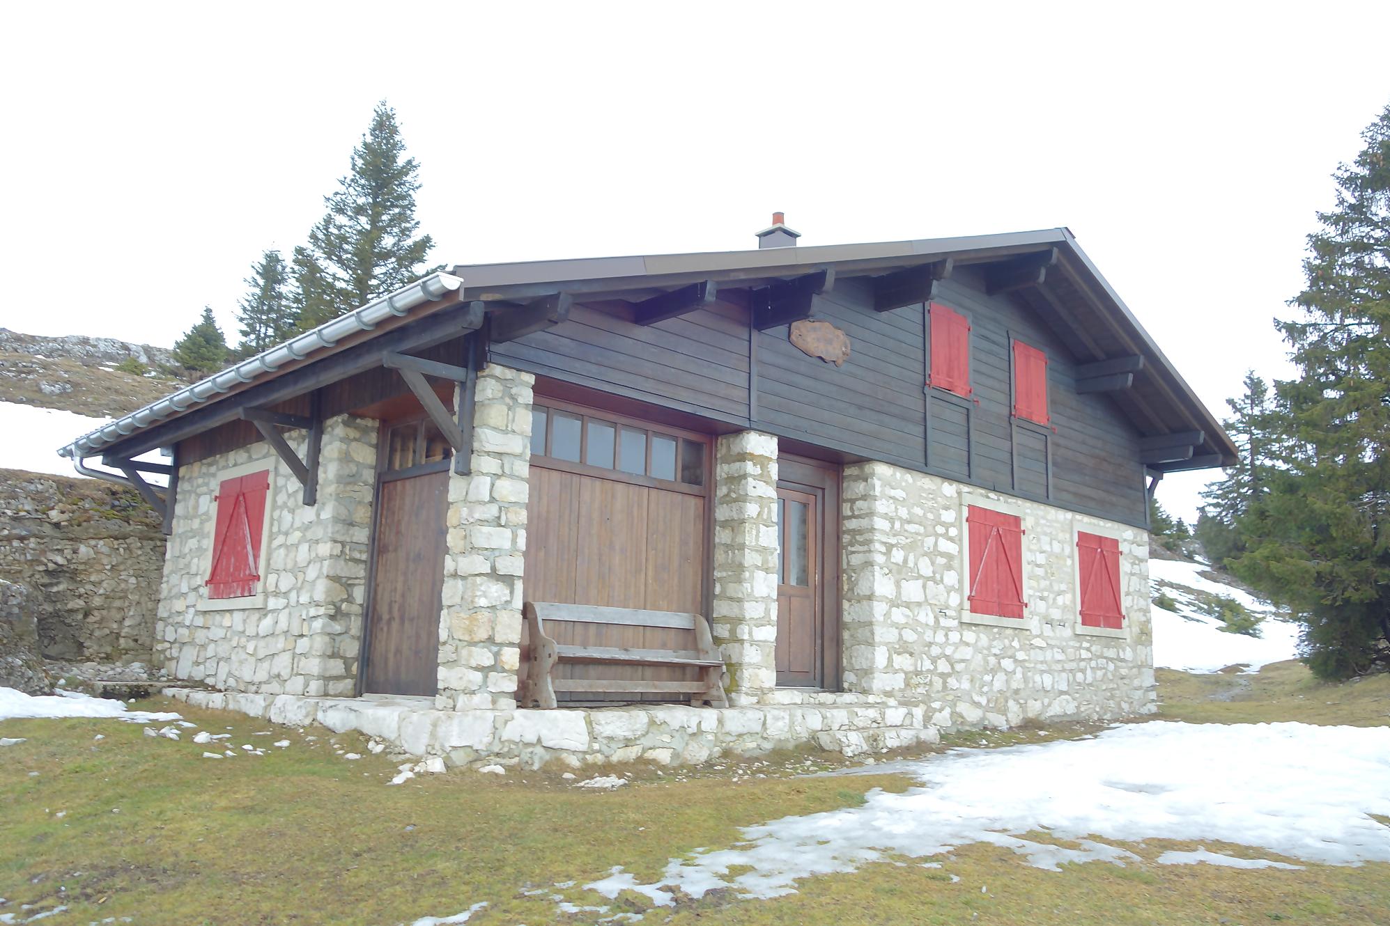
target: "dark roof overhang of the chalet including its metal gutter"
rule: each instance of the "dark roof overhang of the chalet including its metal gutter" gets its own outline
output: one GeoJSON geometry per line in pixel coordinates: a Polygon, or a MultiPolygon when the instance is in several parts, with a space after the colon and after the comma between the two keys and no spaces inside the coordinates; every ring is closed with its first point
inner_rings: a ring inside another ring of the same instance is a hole
{"type": "Polygon", "coordinates": [[[1151,469],[1172,472],[1236,462],[1236,447],[1220,423],[1065,228],[866,244],[456,265],[83,435],[58,453],[81,458],[117,444],[136,453],[149,450],[152,439],[177,432],[142,432],[195,405],[284,376],[459,303],[481,303],[489,312],[517,311],[559,293],[577,301],[635,303],[703,282],[716,282],[720,290],[730,285],[756,289],[824,268],[833,268],[840,278],[881,276],[947,258],[956,267],[1001,265],[1011,273],[1008,289],[1069,344],[1079,364],[1094,373],[1090,382],[1097,390],[1123,382],[1125,387],[1111,394],[1148,446],[1163,451],[1147,460],[1151,469]],[[1033,267],[1034,254],[1047,264],[1045,279],[1033,267]],[[1017,269],[1023,273],[1015,273],[1017,269]],[[1115,372],[1108,372],[1112,368],[1115,372]],[[142,439],[132,440],[136,436],[142,439]],[[1179,440],[1187,443],[1177,446],[1179,440]]]}

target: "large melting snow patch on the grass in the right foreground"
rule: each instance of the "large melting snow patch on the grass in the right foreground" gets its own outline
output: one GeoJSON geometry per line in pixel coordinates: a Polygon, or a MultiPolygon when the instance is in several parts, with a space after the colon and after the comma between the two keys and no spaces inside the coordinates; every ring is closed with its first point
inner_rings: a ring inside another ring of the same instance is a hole
{"type": "MultiPolygon", "coordinates": [[[[1138,858],[1113,843],[1150,839],[1250,847],[1240,855],[1207,845],[1166,851],[1156,858],[1162,865],[1298,866],[1262,854],[1323,865],[1390,862],[1390,827],[1369,816],[1390,815],[1390,727],[1151,722],[1084,740],[955,750],[894,771],[922,786],[873,790],[862,807],[745,827],[744,841],[671,859],[655,882],[616,868],[584,887],[610,898],[632,890],[657,907],[673,905],[667,889],[770,898],[794,893],[802,879],[869,862],[906,858],[949,869],[949,858],[927,859],[970,843],[1012,850],[1048,870],[1065,862],[1129,865],[1138,858]],[[1024,839],[1031,830],[1077,847],[1024,839]]],[[[538,893],[573,905],[569,887],[538,893]]],[[[461,920],[416,920],[439,922],[461,920]]]]}

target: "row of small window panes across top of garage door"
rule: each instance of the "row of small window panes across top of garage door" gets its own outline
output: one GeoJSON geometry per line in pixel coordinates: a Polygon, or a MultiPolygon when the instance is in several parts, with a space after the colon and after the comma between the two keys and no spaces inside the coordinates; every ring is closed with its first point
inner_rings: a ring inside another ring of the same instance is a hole
{"type": "MultiPolygon", "coordinates": [[[[708,444],[603,415],[531,408],[531,455],[641,479],[705,485],[708,444]]],[[[600,475],[600,473],[595,473],[600,475]]]]}

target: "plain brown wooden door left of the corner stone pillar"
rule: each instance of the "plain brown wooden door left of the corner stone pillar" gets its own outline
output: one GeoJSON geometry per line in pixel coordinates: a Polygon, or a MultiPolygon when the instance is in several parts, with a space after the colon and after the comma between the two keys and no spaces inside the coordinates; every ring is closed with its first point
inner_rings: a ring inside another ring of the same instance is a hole
{"type": "Polygon", "coordinates": [[[449,472],[382,479],[363,691],[434,694],[449,472]]]}

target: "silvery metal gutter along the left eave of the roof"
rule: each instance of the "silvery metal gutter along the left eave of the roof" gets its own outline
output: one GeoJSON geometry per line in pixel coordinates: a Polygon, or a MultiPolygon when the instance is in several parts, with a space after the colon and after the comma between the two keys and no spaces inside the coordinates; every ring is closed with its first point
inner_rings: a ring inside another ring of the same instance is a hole
{"type": "Polygon", "coordinates": [[[409,286],[402,286],[393,293],[388,293],[378,300],[367,303],[361,308],[324,322],[318,328],[297,335],[291,340],[277,344],[256,354],[242,362],[202,379],[192,386],[185,386],[172,396],[160,398],[139,408],[124,418],[117,418],[108,425],[86,433],[71,444],[58,448],[60,457],[72,461],[74,468],[83,476],[93,476],[129,485],[124,476],[104,473],[90,469],[83,464],[85,457],[96,454],[103,447],[108,447],[126,435],[149,428],[150,425],[171,418],[195,405],[211,401],[218,396],[231,392],[245,383],[253,383],[274,373],[279,368],[304,360],[318,351],[338,344],[338,342],[359,332],[370,332],[382,321],[409,315],[411,310],[425,303],[438,301],[463,287],[463,278],[453,273],[431,273],[409,286]]]}

